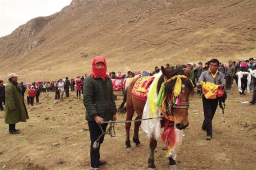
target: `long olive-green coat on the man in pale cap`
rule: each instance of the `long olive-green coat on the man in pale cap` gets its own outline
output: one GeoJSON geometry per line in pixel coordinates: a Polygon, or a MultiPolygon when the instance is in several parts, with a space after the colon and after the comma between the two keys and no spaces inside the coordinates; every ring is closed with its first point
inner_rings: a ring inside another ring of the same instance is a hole
{"type": "Polygon", "coordinates": [[[5,123],[15,124],[20,121],[26,122],[28,119],[27,108],[21,94],[22,89],[18,84],[8,82],[5,88],[5,123]]]}

